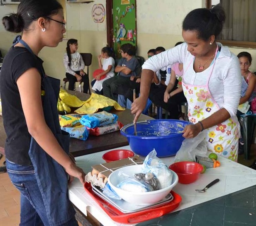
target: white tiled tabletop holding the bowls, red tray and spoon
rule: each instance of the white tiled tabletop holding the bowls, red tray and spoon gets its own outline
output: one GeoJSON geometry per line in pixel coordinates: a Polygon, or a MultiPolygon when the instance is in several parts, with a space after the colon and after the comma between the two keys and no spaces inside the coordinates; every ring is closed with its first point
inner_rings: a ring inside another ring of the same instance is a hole
{"type": "MultiPolygon", "coordinates": [[[[117,148],[115,148],[117,149],[117,148]]],[[[129,146],[124,146],[119,149],[131,150],[129,146]]],[[[113,149],[111,149],[113,150],[113,149]]],[[[110,150],[107,150],[110,151],[110,150]]],[[[88,173],[91,171],[91,166],[104,163],[102,155],[107,152],[102,151],[90,155],[76,157],[77,165],[88,173]]],[[[171,165],[173,157],[161,158],[167,166],[171,165]]],[[[199,179],[194,183],[184,185],[178,183],[173,190],[182,197],[182,202],[175,211],[195,206],[202,202],[207,202],[211,199],[222,197],[224,195],[242,190],[247,187],[256,185],[256,170],[252,170],[244,165],[235,163],[231,160],[218,157],[221,163],[219,168],[207,169],[204,174],[201,174],[199,179]],[[195,189],[202,189],[211,181],[219,178],[219,182],[211,187],[205,193],[198,193],[195,189]]],[[[101,207],[85,192],[83,185],[75,179],[69,187],[69,198],[71,202],[85,215],[90,212],[104,226],[133,226],[136,224],[120,224],[113,221],[101,207]]]]}

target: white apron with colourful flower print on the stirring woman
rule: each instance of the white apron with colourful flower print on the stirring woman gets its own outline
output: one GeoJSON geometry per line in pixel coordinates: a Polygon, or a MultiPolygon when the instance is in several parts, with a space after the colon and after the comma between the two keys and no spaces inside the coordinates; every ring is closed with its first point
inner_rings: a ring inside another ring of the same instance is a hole
{"type": "MultiPolygon", "coordinates": [[[[215,53],[215,61],[217,50],[215,53]]],[[[193,59],[191,59],[188,67],[184,71],[184,75],[195,73],[193,69],[193,59]]],[[[182,82],[183,92],[188,101],[188,118],[193,124],[198,121],[210,117],[220,108],[213,99],[209,90],[209,80],[212,75],[215,61],[208,75],[205,85],[188,85],[182,82]]],[[[210,69],[209,67],[209,69],[210,69]]],[[[238,141],[240,137],[240,125],[236,116],[227,119],[225,122],[205,129],[208,151],[217,153],[225,158],[229,158],[237,162],[238,141]]]]}

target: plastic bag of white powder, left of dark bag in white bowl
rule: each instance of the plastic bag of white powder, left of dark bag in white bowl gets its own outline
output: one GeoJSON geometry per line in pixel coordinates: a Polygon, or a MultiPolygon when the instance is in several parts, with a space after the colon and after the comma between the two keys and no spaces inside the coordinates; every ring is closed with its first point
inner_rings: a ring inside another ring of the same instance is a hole
{"type": "Polygon", "coordinates": [[[118,176],[123,180],[117,185],[118,188],[128,192],[152,192],[153,187],[144,181],[137,180],[135,177],[130,177],[120,171],[118,176]]]}

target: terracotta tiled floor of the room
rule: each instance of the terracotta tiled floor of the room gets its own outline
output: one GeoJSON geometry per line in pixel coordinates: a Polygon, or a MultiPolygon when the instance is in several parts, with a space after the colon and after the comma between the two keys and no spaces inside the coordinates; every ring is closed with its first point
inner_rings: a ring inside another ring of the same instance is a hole
{"type": "MultiPolygon", "coordinates": [[[[238,162],[249,166],[254,159],[256,159],[256,144],[251,147],[250,160],[244,160],[244,155],[240,155],[238,162]]],[[[3,161],[4,158],[0,160],[0,165],[3,161]]],[[[0,226],[18,226],[19,222],[20,194],[12,186],[7,173],[0,173],[0,226]]]]}

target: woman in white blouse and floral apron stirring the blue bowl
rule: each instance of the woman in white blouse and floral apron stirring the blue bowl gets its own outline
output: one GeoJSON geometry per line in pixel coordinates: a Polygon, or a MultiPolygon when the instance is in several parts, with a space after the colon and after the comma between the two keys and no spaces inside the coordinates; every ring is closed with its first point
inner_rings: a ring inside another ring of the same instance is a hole
{"type": "Polygon", "coordinates": [[[237,161],[240,136],[236,111],[240,100],[241,73],[238,58],[215,38],[222,31],[225,13],[220,5],[188,13],[183,21],[185,43],[152,56],[142,66],[140,97],[132,104],[135,121],[146,105],[154,72],[183,63],[183,92],[188,117],[193,124],[184,129],[185,138],[204,130],[208,151],[237,161]]]}

